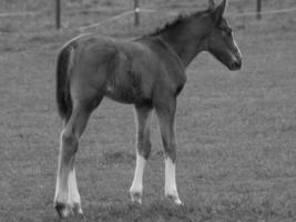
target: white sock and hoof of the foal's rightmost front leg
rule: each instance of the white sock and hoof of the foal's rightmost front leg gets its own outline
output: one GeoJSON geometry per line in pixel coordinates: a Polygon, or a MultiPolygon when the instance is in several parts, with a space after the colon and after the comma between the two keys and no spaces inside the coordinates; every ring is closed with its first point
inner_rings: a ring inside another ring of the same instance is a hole
{"type": "Polygon", "coordinates": [[[182,204],[176,189],[175,163],[170,158],[165,158],[164,163],[165,163],[164,194],[170,199],[172,199],[176,204],[182,204]]]}

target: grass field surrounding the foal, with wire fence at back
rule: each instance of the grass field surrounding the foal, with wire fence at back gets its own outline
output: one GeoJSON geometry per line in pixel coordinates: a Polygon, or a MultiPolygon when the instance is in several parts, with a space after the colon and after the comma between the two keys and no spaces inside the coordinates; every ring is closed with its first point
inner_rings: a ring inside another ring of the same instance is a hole
{"type": "MultiPolygon", "coordinates": [[[[30,2],[29,7],[6,0],[0,6],[2,11],[49,6],[30,2]]],[[[101,21],[132,6],[119,0],[100,2],[103,11],[65,14],[64,26],[101,21]]],[[[153,8],[160,2],[171,6],[170,10],[192,10],[175,6],[178,1],[143,1],[143,6],[153,8]]],[[[296,7],[293,0],[263,2],[266,10],[296,7]]],[[[80,3],[71,1],[64,7],[75,9],[80,3]]],[[[83,1],[83,7],[89,9],[92,3],[83,1]]],[[[228,12],[251,10],[254,2],[243,0],[231,1],[228,8],[228,12]]],[[[90,31],[131,38],[171,18],[143,14],[142,26],[134,28],[127,17],[90,31]]],[[[187,84],[178,98],[177,184],[185,204],[174,206],[163,198],[164,163],[155,118],[143,205],[131,204],[133,108],[104,100],[78,152],[85,215],[69,221],[296,221],[296,16],[229,20],[243,52],[243,69],[229,72],[202,53],[190,65],[187,84]]],[[[52,208],[61,132],[54,101],[55,58],[59,47],[78,32],[53,27],[52,13],[0,20],[1,222],[58,221],[52,208]]]]}

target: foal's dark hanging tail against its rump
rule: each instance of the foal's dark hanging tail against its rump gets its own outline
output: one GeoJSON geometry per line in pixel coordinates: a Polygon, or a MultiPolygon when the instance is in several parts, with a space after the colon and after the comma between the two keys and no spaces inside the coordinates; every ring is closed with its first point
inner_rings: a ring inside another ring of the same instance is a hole
{"type": "Polygon", "coordinates": [[[71,65],[71,46],[62,49],[57,62],[57,104],[60,117],[68,121],[72,113],[70,94],[69,68],[71,65]]]}

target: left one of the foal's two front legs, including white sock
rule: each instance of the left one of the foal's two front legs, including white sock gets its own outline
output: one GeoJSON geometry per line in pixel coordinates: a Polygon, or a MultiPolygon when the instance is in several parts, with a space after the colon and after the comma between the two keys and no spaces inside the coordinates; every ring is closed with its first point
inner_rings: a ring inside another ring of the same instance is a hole
{"type": "Polygon", "coordinates": [[[130,195],[132,202],[142,204],[143,193],[143,172],[146,160],[151,152],[150,124],[152,108],[151,105],[135,105],[136,115],[136,161],[130,195]]]}

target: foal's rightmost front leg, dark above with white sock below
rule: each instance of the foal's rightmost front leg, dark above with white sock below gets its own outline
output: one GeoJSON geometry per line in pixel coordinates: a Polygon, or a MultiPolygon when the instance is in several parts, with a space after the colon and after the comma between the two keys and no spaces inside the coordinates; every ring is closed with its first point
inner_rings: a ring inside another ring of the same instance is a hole
{"type": "Polygon", "coordinates": [[[175,139],[175,112],[176,100],[175,98],[166,98],[165,101],[155,105],[164,148],[164,163],[165,163],[165,186],[164,194],[176,204],[182,204],[177,188],[175,175],[175,161],[176,161],[176,139],[175,139]]]}

